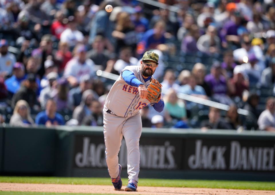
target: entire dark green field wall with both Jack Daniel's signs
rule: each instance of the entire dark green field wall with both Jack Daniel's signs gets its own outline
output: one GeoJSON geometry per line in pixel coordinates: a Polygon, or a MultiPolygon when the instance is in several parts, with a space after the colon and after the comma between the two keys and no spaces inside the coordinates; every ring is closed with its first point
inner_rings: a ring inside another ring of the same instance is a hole
{"type": "MultiPolygon", "coordinates": [[[[109,177],[103,127],[5,127],[1,134],[2,175],[109,177]]],[[[139,176],[275,181],[274,151],[269,132],[144,128],[139,176]]],[[[119,163],[127,177],[124,139],[119,163]]]]}

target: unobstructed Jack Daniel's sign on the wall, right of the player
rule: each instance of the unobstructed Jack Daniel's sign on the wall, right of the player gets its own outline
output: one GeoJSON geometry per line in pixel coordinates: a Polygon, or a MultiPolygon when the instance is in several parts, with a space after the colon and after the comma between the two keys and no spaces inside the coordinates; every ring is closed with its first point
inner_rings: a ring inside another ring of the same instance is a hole
{"type": "Polygon", "coordinates": [[[275,142],[188,141],[187,168],[198,170],[274,171],[275,142]],[[258,146],[257,146],[258,145],[258,146]],[[190,151],[190,150],[189,150],[190,151]]]}

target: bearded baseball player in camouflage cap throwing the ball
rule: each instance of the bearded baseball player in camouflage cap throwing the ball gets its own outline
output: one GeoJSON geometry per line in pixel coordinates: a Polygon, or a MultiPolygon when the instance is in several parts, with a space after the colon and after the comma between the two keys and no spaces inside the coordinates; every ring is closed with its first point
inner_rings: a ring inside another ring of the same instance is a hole
{"type": "Polygon", "coordinates": [[[142,131],[139,110],[150,104],[161,112],[164,101],[161,85],[153,78],[158,67],[158,54],[147,51],[139,66],[125,67],[113,84],[103,108],[105,154],[115,190],[120,190],[121,165],[118,153],[124,136],[127,146],[128,185],[125,191],[136,191],[140,171],[139,140],[142,131]],[[147,88],[147,89],[146,89],[147,88]]]}

